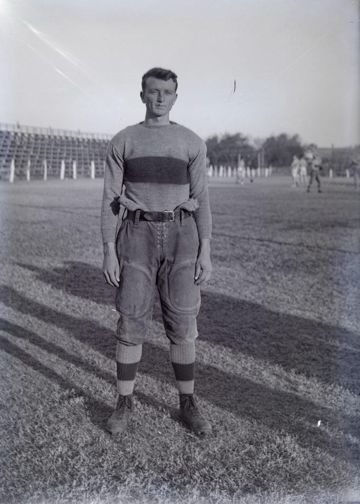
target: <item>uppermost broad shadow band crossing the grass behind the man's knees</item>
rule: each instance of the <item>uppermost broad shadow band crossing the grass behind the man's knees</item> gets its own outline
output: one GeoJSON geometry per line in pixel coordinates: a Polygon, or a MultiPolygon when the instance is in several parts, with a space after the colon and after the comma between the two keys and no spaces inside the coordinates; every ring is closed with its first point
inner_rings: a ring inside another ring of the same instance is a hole
{"type": "MultiPolygon", "coordinates": [[[[99,268],[69,262],[52,271],[19,264],[51,286],[83,299],[114,305],[115,289],[99,268]]],[[[360,334],[302,317],[271,311],[259,304],[202,291],[197,326],[202,340],[241,351],[308,377],[360,390],[360,334]]],[[[154,320],[162,321],[159,302],[154,320]]]]}

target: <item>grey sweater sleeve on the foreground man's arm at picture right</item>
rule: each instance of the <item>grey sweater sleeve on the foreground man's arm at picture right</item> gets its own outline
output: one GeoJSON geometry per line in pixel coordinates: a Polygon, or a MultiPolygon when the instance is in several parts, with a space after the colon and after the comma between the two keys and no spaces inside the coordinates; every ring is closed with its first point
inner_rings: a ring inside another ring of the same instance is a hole
{"type": "Polygon", "coordinates": [[[201,145],[195,156],[189,159],[190,198],[196,198],[199,208],[194,211],[199,238],[211,238],[211,213],[207,188],[206,144],[201,145]]]}

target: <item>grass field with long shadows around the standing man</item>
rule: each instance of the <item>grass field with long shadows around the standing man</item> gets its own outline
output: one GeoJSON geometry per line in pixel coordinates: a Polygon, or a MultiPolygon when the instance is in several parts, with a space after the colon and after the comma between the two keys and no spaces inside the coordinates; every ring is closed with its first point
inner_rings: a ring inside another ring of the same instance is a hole
{"type": "Polygon", "coordinates": [[[6,503],[360,501],[360,199],[290,177],[210,183],[196,394],[174,419],[159,303],[127,432],[116,402],[115,290],[103,282],[102,180],[0,185],[1,472],[6,503]]]}

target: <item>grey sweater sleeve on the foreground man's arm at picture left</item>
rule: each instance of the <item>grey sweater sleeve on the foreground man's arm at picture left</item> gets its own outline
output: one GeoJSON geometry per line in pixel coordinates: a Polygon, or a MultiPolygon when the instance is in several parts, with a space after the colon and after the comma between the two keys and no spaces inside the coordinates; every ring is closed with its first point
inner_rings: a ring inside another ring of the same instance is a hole
{"type": "Polygon", "coordinates": [[[103,203],[101,207],[101,235],[103,243],[115,242],[119,216],[119,196],[122,191],[124,160],[112,142],[106,150],[103,203]]]}

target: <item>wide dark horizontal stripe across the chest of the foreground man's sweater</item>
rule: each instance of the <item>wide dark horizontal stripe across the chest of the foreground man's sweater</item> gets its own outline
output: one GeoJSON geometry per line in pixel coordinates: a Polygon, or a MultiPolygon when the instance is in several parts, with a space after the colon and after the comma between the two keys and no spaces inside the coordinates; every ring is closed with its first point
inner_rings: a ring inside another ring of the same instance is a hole
{"type": "Polygon", "coordinates": [[[126,159],[124,182],[188,184],[190,177],[182,159],[147,156],[126,159]]]}

